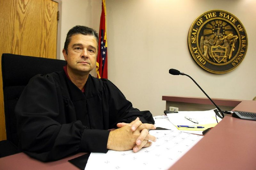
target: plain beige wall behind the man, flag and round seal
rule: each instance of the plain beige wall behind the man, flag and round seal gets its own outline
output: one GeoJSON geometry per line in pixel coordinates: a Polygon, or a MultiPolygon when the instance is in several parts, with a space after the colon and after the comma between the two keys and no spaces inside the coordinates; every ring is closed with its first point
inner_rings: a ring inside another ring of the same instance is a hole
{"type": "MultiPolygon", "coordinates": [[[[256,1],[106,0],[106,5],[108,78],[134,107],[159,115],[165,109],[163,95],[205,97],[188,77],[170,75],[170,68],[192,76],[212,98],[252,100],[256,96],[256,1]],[[248,37],[242,63],[221,75],[197,66],[187,44],[193,21],[217,9],[234,14],[248,37]]],[[[67,31],[75,25],[98,31],[100,12],[101,0],[62,0],[61,49],[67,31]]]]}

